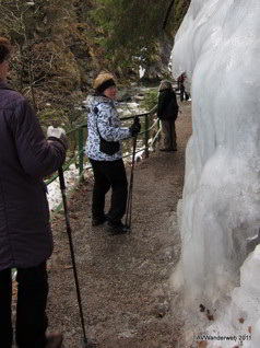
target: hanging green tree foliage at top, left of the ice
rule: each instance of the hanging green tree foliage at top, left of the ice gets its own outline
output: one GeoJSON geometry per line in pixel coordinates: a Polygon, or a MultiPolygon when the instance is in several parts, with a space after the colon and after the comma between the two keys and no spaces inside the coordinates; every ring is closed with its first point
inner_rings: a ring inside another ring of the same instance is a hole
{"type": "Polygon", "coordinates": [[[159,42],[174,43],[175,32],[186,13],[190,0],[175,0],[166,28],[162,24],[172,0],[95,0],[91,16],[103,33],[98,43],[106,49],[111,66],[130,68],[150,67],[158,61],[159,42]],[[178,9],[177,18],[175,10],[178,9]]]}

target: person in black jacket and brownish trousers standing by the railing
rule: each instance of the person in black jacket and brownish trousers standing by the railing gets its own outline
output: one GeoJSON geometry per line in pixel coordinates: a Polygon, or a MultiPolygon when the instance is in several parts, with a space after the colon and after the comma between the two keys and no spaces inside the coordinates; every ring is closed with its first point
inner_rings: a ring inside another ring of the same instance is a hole
{"type": "Polygon", "coordinates": [[[177,151],[175,120],[178,116],[178,104],[172,83],[161,82],[158,90],[157,117],[161,119],[164,134],[164,148],[161,151],[177,151]]]}

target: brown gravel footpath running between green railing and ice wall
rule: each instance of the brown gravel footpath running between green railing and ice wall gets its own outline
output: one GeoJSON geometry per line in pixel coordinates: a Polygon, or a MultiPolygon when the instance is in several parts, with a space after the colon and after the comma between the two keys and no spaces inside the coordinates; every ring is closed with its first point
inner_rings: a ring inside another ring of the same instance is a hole
{"type": "MultiPolygon", "coordinates": [[[[191,134],[190,103],[182,103],[181,111],[178,151],[156,150],[135,165],[130,235],[108,235],[104,227],[91,227],[90,177],[70,199],[85,327],[96,348],[182,347],[179,294],[168,283],[180,253],[176,209],[191,134]]],[[[79,348],[83,347],[82,327],[62,214],[52,222],[52,230],[49,329],[64,334],[63,348],[79,348]]]]}

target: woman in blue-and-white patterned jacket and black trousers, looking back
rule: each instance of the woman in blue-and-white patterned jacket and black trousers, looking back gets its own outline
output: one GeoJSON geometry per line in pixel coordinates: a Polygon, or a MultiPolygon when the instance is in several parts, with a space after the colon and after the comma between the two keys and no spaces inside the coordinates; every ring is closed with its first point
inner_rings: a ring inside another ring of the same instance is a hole
{"type": "Polygon", "coordinates": [[[117,86],[110,73],[102,72],[93,82],[94,94],[88,95],[86,154],[94,173],[92,225],[107,221],[110,233],[123,233],[121,219],[126,212],[128,182],[122,161],[121,140],[139,134],[135,119],[131,127],[121,127],[116,109],[117,86]],[[105,196],[111,188],[110,209],[105,214],[105,196]]]}

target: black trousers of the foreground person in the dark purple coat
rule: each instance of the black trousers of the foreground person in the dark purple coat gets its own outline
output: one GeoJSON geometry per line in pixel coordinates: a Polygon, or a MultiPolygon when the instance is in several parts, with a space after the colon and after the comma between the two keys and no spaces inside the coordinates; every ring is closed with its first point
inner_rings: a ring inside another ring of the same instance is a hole
{"type": "MultiPolygon", "coordinates": [[[[17,268],[16,344],[20,348],[44,348],[48,320],[45,313],[48,279],[46,263],[17,268]]],[[[0,347],[11,348],[12,330],[11,269],[0,271],[0,347]]]]}

